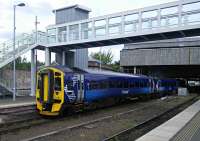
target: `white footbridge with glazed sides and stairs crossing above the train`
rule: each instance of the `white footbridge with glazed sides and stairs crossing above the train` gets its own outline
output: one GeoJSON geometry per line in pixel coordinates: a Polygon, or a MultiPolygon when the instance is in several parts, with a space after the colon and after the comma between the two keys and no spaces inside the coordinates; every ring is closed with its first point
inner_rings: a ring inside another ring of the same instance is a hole
{"type": "Polygon", "coordinates": [[[45,64],[49,65],[50,50],[56,52],[199,35],[200,0],[179,0],[50,25],[46,32],[23,34],[17,38],[15,50],[11,41],[0,45],[0,68],[29,50],[32,50],[34,66],[33,49],[45,50],[45,64]]]}

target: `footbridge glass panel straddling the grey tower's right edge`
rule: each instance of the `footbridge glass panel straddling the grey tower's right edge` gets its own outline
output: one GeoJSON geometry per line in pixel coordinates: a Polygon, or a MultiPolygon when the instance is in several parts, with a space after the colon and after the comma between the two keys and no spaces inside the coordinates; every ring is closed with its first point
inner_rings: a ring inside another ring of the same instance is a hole
{"type": "Polygon", "coordinates": [[[81,39],[88,39],[92,37],[92,22],[81,24],[81,39]]]}

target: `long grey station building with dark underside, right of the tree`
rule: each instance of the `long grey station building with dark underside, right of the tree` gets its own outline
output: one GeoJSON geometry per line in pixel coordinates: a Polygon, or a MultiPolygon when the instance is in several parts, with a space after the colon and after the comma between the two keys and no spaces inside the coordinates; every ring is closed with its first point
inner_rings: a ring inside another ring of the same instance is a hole
{"type": "Polygon", "coordinates": [[[120,65],[127,73],[199,79],[199,46],[199,37],[126,44],[120,65]]]}

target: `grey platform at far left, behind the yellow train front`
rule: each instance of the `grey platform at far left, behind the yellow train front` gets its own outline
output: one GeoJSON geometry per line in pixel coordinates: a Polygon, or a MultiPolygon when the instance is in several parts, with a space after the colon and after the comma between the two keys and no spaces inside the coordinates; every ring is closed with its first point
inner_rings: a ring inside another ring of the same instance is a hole
{"type": "Polygon", "coordinates": [[[34,104],[35,104],[35,97],[31,96],[16,97],[16,101],[13,101],[12,98],[0,99],[0,109],[29,106],[34,104]]]}

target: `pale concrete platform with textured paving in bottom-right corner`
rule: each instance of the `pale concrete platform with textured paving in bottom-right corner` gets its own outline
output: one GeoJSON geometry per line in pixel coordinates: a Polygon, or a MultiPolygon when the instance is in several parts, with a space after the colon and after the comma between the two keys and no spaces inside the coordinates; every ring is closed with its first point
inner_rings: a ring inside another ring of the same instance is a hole
{"type": "Polygon", "coordinates": [[[136,141],[199,141],[200,100],[136,141]]]}

